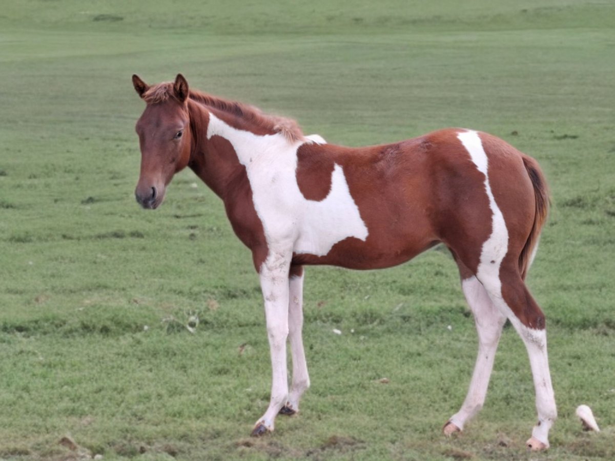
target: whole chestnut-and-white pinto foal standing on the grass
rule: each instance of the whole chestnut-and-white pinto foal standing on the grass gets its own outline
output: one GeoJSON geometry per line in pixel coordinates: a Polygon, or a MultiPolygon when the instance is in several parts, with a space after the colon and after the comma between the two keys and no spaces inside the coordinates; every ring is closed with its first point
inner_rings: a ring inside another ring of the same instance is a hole
{"type": "Polygon", "coordinates": [[[448,128],[405,141],[349,148],[306,136],[295,120],[189,89],[185,77],[132,82],[146,107],[135,130],[143,208],[164,200],[189,167],[224,203],[260,277],[271,352],[271,400],[252,435],[299,411],[310,385],[303,347],[304,266],[395,266],[443,243],[459,268],[478,332],[478,357],[451,436],[483,406],[508,319],[525,343],[538,423],[526,442],[549,447],[557,418],[545,317],[525,285],[549,210],[536,160],[496,136],[448,128]],[[288,387],[287,341],[292,355],[288,387]]]}

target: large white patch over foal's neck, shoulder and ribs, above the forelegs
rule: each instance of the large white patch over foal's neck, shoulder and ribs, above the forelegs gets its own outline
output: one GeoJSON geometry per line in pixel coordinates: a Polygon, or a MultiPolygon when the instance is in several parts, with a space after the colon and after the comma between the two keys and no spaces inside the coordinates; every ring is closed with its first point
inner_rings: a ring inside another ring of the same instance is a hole
{"type": "Polygon", "coordinates": [[[301,194],[296,179],[297,149],[306,142],[325,143],[322,137],[311,135],[290,144],[281,135],[237,130],[210,113],[207,138],[214,135],[228,140],[245,166],[254,208],[270,246],[292,246],[295,253],[325,256],[344,238],[365,241],[367,226],[341,166],[333,168],[331,190],[324,200],[308,200],[301,194]]]}

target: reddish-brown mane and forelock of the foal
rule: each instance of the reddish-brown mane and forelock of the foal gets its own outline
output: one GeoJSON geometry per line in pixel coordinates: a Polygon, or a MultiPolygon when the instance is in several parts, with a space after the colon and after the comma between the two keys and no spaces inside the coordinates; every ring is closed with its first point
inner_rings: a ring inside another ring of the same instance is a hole
{"type": "MultiPolygon", "coordinates": [[[[173,92],[173,82],[153,85],[143,94],[143,100],[148,104],[162,103],[169,98],[177,99],[173,92]]],[[[264,130],[280,133],[290,143],[305,138],[296,120],[263,114],[263,112],[255,106],[224,100],[223,98],[218,98],[195,90],[190,90],[189,98],[204,106],[218,109],[219,111],[244,119],[264,130]]]]}

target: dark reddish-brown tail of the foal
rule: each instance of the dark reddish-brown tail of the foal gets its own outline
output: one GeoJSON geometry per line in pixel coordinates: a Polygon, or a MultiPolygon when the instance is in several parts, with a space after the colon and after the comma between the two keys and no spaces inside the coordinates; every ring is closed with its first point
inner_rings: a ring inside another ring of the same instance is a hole
{"type": "Polygon", "coordinates": [[[547,181],[542,174],[538,162],[536,162],[533,158],[524,155],[523,165],[525,166],[528,176],[530,176],[530,180],[532,181],[534,199],[536,203],[532,230],[530,231],[528,240],[525,242],[525,246],[523,246],[523,250],[519,255],[519,269],[521,271],[521,277],[525,280],[525,276],[528,274],[528,270],[530,270],[534,256],[536,256],[536,250],[538,250],[538,241],[540,240],[542,227],[547,221],[550,197],[547,181]]]}

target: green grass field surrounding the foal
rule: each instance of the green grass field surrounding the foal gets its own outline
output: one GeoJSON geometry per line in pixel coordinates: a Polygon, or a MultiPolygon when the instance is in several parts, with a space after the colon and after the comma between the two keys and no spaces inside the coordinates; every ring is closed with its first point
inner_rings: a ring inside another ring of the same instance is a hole
{"type": "Polygon", "coordinates": [[[0,459],[615,459],[615,4],[209,3],[2,3],[0,459]],[[248,437],[270,385],[250,253],[190,171],[154,213],[133,197],[130,76],[178,72],[333,143],[463,126],[541,162],[553,209],[529,285],[559,410],[549,451],[525,451],[533,384],[511,328],[485,409],[441,435],[477,348],[442,248],[309,268],[312,388],[248,437]],[[600,433],[581,431],[581,403],[600,433]]]}

